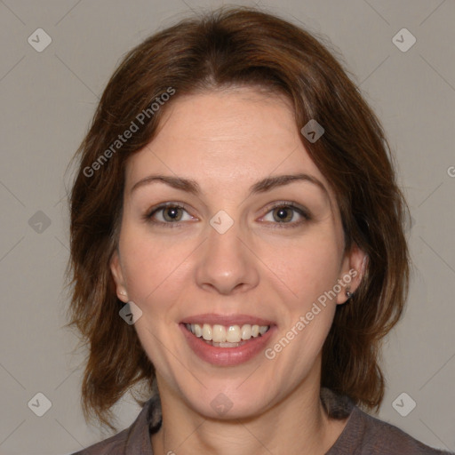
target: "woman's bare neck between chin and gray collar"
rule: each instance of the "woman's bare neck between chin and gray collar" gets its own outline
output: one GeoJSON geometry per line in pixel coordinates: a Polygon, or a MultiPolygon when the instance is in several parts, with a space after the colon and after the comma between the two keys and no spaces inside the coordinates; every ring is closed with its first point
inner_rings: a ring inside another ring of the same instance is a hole
{"type": "Polygon", "coordinates": [[[155,455],[323,455],[347,423],[329,419],[319,382],[304,382],[283,401],[245,419],[206,418],[172,394],[160,395],[163,425],[152,435],[155,455]]]}

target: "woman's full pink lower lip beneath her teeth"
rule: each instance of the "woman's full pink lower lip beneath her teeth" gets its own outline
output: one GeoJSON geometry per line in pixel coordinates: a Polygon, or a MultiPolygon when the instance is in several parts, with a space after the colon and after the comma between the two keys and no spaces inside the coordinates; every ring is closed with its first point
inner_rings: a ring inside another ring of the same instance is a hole
{"type": "Polygon", "coordinates": [[[276,326],[273,325],[264,333],[256,338],[251,338],[244,345],[239,347],[214,347],[208,345],[204,339],[196,337],[180,323],[180,329],[188,341],[189,347],[195,354],[205,362],[220,366],[234,366],[240,363],[248,362],[251,358],[263,352],[268,339],[272,336],[276,326]]]}

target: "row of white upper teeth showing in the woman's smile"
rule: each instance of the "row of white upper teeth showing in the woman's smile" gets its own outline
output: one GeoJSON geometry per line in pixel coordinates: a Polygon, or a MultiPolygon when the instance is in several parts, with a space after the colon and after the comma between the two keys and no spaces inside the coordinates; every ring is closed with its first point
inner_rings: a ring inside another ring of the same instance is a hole
{"type": "Polygon", "coordinates": [[[212,341],[213,346],[218,347],[236,347],[236,343],[242,340],[257,338],[259,335],[264,335],[270,326],[245,323],[240,327],[239,325],[224,325],[209,323],[187,324],[188,331],[191,331],[197,338],[203,338],[205,341],[212,341]],[[231,344],[232,343],[232,344],[231,344]]]}

